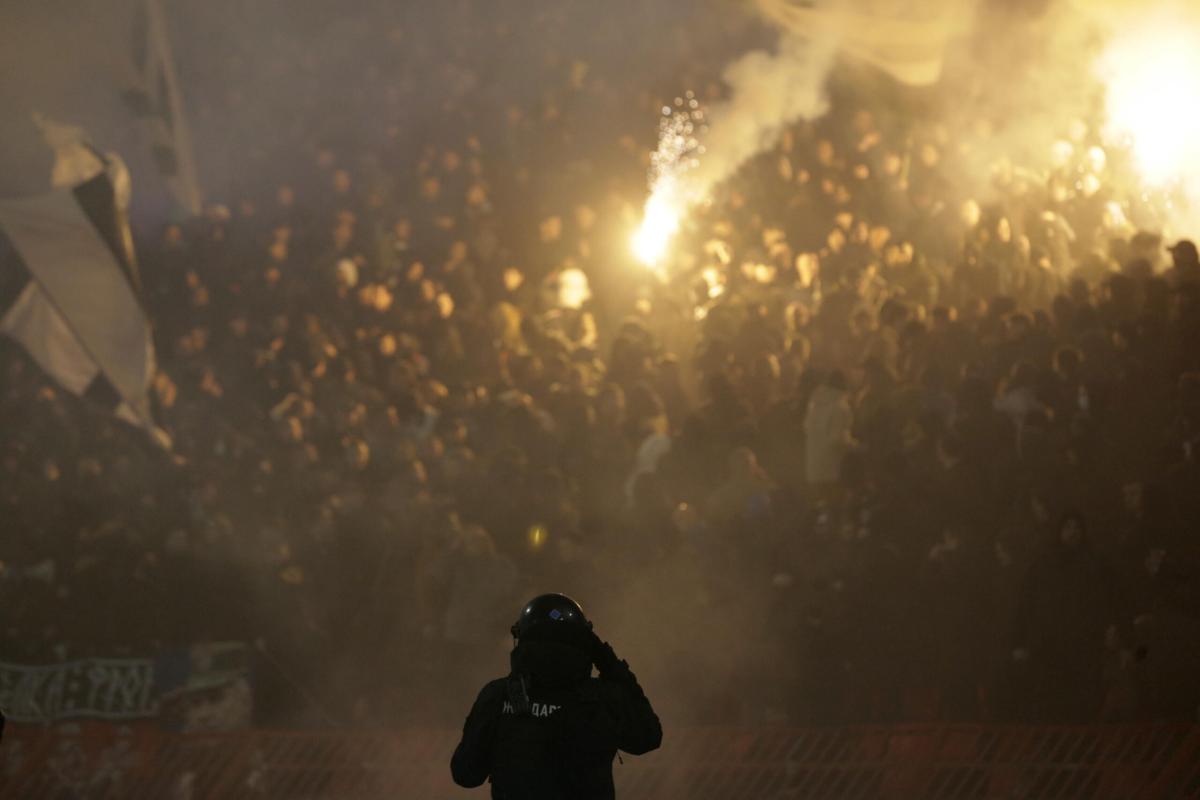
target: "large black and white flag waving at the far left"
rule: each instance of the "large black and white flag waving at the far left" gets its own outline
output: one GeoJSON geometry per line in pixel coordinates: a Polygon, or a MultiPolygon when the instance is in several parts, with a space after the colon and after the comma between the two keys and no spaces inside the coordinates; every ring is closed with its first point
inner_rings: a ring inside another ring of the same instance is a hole
{"type": "Polygon", "coordinates": [[[154,343],[125,217],[124,166],[71,187],[0,200],[0,333],[67,391],[160,444],[149,389],[154,343]]]}

